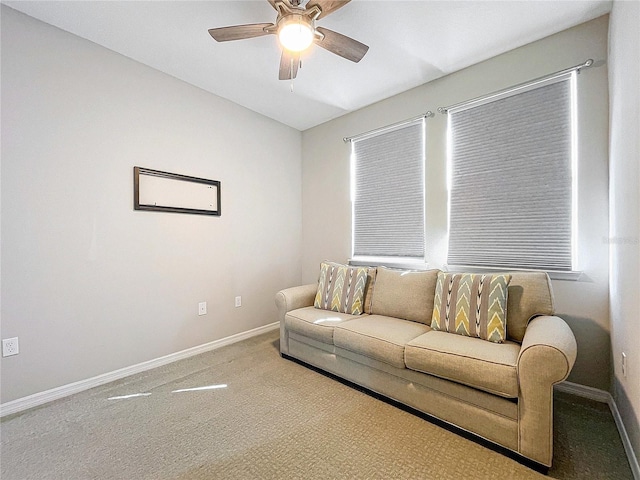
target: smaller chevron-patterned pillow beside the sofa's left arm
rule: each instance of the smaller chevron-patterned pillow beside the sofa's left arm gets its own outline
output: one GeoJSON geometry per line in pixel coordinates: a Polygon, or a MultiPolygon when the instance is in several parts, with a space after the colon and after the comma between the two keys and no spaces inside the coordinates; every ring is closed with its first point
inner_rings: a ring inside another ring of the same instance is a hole
{"type": "Polygon", "coordinates": [[[318,291],[313,306],[323,310],[360,315],[364,311],[367,267],[320,264],[318,291]]]}

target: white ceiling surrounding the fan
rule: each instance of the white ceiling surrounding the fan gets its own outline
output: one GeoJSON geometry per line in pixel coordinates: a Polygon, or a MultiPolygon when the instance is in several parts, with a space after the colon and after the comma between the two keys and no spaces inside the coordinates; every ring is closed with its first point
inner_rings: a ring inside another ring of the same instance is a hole
{"type": "Polygon", "coordinates": [[[274,35],[217,43],[207,32],[275,21],[266,0],[2,3],[298,130],[611,8],[609,0],[353,0],[317,25],[369,45],[369,52],[355,64],[312,47],[291,92],[290,81],[278,80],[274,35]]]}

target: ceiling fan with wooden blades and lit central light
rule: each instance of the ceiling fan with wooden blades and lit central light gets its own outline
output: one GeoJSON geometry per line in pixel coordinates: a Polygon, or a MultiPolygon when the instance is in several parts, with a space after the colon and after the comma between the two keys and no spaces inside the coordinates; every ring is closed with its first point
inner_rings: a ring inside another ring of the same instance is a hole
{"type": "Polygon", "coordinates": [[[282,46],[280,80],[293,80],[300,66],[300,54],[312,43],[340,55],[352,62],[359,62],[369,47],[353,38],[328,28],[316,27],[316,20],[344,7],[351,0],[268,0],[278,12],[275,23],[253,23],[231,27],[212,28],[209,34],[218,42],[244,38],[278,35],[282,46]]]}

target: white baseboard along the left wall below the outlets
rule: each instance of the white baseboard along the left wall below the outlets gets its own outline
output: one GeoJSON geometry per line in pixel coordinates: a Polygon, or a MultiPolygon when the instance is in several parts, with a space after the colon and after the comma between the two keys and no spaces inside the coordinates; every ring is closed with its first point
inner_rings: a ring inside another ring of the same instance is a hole
{"type": "Polygon", "coordinates": [[[18,398],[17,400],[12,400],[11,402],[6,402],[0,405],[0,417],[22,412],[23,410],[37,407],[45,403],[52,402],[53,400],[58,400],[69,395],[73,395],[74,393],[89,390],[90,388],[104,385],[105,383],[113,382],[114,380],[119,380],[135,373],[151,370],[152,368],[161,367],[162,365],[166,365],[168,363],[176,362],[184,358],[193,357],[194,355],[198,355],[200,353],[209,352],[211,350],[215,350],[216,348],[224,347],[241,340],[246,340],[247,338],[255,337],[256,335],[275,330],[279,327],[279,325],[279,322],[270,323],[269,325],[264,325],[252,330],[247,330],[246,332],[236,333],[235,335],[221,338],[220,340],[214,340],[213,342],[191,347],[180,352],[171,353],[169,355],[165,355],[164,357],[159,357],[153,360],[138,363],[137,365],[114,370],[113,372],[104,373],[96,377],[87,378],[86,380],[80,380],[79,382],[70,383],[61,387],[52,388],[51,390],[45,390],[44,392],[34,393],[33,395],[29,395],[27,397],[18,398]]]}

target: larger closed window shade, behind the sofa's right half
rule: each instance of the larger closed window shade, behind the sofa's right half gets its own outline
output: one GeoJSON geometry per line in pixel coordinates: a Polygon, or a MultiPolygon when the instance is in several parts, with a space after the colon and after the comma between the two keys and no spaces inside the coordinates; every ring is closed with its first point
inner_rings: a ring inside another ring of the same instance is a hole
{"type": "Polygon", "coordinates": [[[571,88],[450,112],[450,265],[572,270],[571,88]]]}

